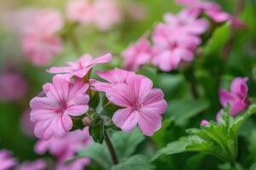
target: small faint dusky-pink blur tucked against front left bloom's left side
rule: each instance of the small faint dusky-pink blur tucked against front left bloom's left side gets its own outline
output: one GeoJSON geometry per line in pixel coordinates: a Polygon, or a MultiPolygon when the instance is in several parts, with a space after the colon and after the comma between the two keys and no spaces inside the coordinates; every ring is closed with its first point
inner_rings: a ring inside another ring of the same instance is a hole
{"type": "Polygon", "coordinates": [[[35,137],[33,129],[34,129],[36,123],[31,121],[30,112],[31,111],[29,109],[24,111],[24,113],[21,116],[20,122],[21,122],[22,131],[24,133],[26,133],[27,136],[33,138],[33,137],[35,137]]]}

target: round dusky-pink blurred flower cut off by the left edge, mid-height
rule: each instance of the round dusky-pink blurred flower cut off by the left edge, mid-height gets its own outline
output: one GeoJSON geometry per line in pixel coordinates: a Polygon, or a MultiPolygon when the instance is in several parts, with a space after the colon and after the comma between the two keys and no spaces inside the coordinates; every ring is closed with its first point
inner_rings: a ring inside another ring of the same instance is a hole
{"type": "Polygon", "coordinates": [[[0,74],[0,101],[20,99],[27,92],[27,83],[24,77],[15,72],[0,74]]]}

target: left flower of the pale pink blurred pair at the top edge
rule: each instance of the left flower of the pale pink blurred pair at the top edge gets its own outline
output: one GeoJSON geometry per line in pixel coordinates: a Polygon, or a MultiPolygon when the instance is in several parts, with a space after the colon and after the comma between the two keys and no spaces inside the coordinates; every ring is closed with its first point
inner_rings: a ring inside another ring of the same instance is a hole
{"type": "Polygon", "coordinates": [[[69,0],[67,3],[67,19],[83,24],[90,24],[96,15],[94,3],[90,0],[69,0]]]}

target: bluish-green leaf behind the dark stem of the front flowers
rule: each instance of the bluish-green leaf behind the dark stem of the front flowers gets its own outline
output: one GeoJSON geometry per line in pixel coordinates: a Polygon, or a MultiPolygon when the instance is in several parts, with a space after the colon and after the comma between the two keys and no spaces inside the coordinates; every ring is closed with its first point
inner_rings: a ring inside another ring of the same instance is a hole
{"type": "MultiPolygon", "coordinates": [[[[137,145],[145,139],[143,133],[136,128],[132,133],[114,132],[110,140],[117,153],[119,162],[124,161],[131,156],[137,148],[137,145]]],[[[77,157],[90,157],[106,170],[112,166],[112,161],[105,144],[91,144],[87,150],[79,150],[77,157]]]]}

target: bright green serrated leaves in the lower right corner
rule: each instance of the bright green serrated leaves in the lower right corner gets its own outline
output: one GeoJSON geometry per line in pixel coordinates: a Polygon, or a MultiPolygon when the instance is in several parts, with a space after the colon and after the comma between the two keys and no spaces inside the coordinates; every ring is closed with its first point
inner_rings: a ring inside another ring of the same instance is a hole
{"type": "Polygon", "coordinates": [[[211,122],[209,126],[187,130],[188,137],[168,144],[166,148],[159,150],[153,156],[152,161],[162,155],[172,155],[184,151],[200,151],[234,164],[237,156],[239,129],[249,116],[256,113],[256,105],[251,105],[244,114],[236,117],[236,119],[225,117],[225,114],[230,116],[229,111],[228,106],[224,110],[224,123],[211,122]]]}

